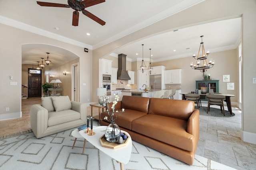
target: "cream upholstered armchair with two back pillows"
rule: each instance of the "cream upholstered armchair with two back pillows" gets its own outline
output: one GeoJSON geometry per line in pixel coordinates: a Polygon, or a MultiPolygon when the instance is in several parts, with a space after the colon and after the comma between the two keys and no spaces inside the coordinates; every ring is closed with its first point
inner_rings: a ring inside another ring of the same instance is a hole
{"type": "Polygon", "coordinates": [[[86,104],[68,96],[42,97],[42,104],[30,109],[30,125],[36,138],[86,124],[86,104]]]}

